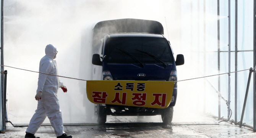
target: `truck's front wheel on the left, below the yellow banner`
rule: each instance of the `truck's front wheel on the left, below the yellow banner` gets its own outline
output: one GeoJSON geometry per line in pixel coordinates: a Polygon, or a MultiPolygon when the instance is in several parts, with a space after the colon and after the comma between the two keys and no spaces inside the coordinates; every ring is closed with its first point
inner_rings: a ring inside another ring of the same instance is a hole
{"type": "Polygon", "coordinates": [[[97,123],[104,124],[107,121],[107,110],[100,104],[95,104],[95,115],[97,117],[97,123]]]}

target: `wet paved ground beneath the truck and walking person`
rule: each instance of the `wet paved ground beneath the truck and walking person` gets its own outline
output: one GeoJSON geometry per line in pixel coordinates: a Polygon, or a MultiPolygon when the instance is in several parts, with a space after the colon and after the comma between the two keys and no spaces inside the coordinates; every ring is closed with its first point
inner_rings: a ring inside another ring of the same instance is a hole
{"type": "MultiPolygon", "coordinates": [[[[97,124],[64,124],[65,132],[74,138],[254,138],[256,133],[250,128],[220,122],[212,117],[203,121],[173,122],[164,125],[160,116],[154,117],[114,117],[108,116],[105,125],[97,124]]],[[[24,138],[27,124],[7,124],[6,133],[0,138],[24,138]]],[[[41,138],[56,138],[50,124],[44,124],[36,133],[41,138]]]]}

